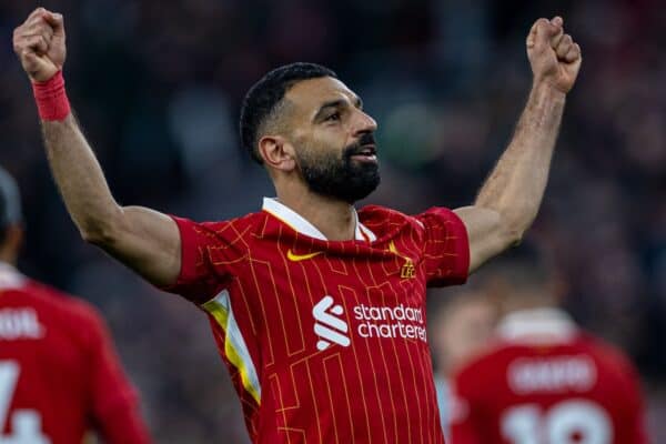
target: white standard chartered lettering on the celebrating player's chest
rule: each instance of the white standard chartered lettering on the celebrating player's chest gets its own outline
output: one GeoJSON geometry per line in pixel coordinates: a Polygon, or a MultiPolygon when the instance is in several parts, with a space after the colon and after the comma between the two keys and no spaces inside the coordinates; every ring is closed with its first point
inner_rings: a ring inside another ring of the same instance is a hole
{"type": "Polygon", "coordinates": [[[426,329],[421,309],[405,306],[356,305],[354,317],[361,323],[357,332],[361,337],[402,337],[427,342],[426,329]]]}

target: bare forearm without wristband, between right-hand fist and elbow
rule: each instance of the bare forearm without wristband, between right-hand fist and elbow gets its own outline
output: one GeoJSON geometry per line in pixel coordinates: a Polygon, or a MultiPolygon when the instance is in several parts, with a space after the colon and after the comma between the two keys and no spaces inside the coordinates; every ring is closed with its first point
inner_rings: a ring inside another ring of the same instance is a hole
{"type": "Polygon", "coordinates": [[[475,205],[501,213],[519,238],[538,212],[559,132],[565,94],[537,84],[515,134],[482,186],[475,205]]]}

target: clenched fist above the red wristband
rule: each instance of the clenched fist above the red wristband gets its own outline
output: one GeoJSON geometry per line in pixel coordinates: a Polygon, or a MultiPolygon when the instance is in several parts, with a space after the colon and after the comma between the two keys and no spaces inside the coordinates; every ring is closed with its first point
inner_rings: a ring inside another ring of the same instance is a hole
{"type": "Polygon", "coordinates": [[[62,16],[38,8],[14,29],[13,49],[33,82],[46,82],[64,64],[62,16]]]}

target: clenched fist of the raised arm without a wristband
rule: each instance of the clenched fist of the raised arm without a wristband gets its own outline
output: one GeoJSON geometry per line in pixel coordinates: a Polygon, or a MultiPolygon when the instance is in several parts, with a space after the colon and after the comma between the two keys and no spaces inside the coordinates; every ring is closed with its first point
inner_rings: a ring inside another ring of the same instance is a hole
{"type": "Polygon", "coordinates": [[[527,58],[534,83],[547,83],[567,93],[574,87],[583,57],[581,47],[564,33],[564,20],[538,19],[527,36],[527,58]]]}

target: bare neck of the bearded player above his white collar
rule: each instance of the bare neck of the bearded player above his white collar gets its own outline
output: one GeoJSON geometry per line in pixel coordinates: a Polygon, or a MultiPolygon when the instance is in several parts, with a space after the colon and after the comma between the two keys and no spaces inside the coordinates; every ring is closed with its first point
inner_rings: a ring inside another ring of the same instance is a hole
{"type": "Polygon", "coordinates": [[[278,200],[312,223],[327,240],[355,239],[356,219],[349,203],[310,191],[286,193],[278,190],[278,200]]]}

